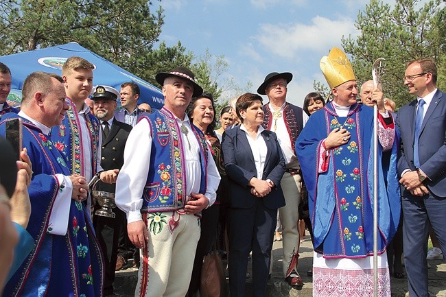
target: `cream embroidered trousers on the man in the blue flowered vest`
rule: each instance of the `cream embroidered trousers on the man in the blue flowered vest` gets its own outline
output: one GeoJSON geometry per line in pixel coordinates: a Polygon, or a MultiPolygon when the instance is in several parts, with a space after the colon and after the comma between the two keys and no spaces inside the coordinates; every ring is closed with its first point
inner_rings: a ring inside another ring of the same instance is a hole
{"type": "Polygon", "coordinates": [[[200,219],[195,215],[175,216],[178,226],[171,233],[167,222],[172,211],[143,214],[149,241],[141,249],[135,297],[184,297],[187,293],[200,239],[200,219]]]}

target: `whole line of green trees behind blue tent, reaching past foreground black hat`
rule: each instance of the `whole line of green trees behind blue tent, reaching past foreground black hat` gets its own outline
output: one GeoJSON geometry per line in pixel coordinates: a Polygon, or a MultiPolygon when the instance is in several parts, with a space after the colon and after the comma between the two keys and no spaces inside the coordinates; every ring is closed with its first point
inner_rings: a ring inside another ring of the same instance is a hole
{"type": "Polygon", "coordinates": [[[164,16],[161,6],[156,11],[153,6],[147,0],[0,0],[0,55],[75,41],[155,86],[156,73],[189,67],[221,108],[227,100],[218,104],[223,93],[241,89],[233,80],[223,80],[228,69],[224,56],[208,49],[197,58],[179,40],[172,47],[163,41],[154,48],[164,16]]]}

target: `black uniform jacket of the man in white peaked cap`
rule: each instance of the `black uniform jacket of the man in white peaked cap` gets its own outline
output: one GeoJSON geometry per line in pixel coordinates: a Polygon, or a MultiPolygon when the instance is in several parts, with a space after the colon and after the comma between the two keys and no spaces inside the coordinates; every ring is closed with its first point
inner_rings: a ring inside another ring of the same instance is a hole
{"type": "MultiPolygon", "coordinates": [[[[102,124],[101,124],[102,130],[102,124]]],[[[127,137],[132,130],[132,126],[113,119],[110,132],[107,137],[102,131],[102,145],[101,145],[101,166],[104,170],[121,169],[124,164],[124,147],[126,147],[127,137]]],[[[96,189],[115,193],[116,184],[106,184],[98,182],[96,189]]]]}

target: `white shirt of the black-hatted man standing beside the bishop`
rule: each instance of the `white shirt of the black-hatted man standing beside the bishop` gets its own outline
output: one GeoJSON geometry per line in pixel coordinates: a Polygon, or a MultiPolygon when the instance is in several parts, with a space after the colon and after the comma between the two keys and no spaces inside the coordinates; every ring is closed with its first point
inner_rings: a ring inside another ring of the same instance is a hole
{"type": "MultiPolygon", "coordinates": [[[[286,102],[283,103],[281,108],[279,108],[279,111],[281,112],[282,116],[277,119],[277,121],[274,121],[274,118],[271,115],[272,118],[272,124],[271,124],[271,131],[275,132],[277,135],[277,140],[279,141],[279,144],[282,149],[283,157],[285,158],[285,167],[287,168],[298,168],[298,160],[296,156],[296,152],[294,152],[292,144],[291,144],[291,137],[290,133],[287,130],[287,126],[285,125],[285,119],[283,119],[283,108],[285,107],[286,102]],[[274,130],[274,122],[276,125],[276,130],[274,130]]],[[[276,111],[274,107],[272,107],[271,104],[269,104],[271,113],[276,111]]],[[[307,123],[308,115],[305,112],[302,112],[302,119],[303,119],[303,126],[305,126],[305,123],[307,123]]],[[[300,131],[299,131],[300,132],[300,131]]]]}

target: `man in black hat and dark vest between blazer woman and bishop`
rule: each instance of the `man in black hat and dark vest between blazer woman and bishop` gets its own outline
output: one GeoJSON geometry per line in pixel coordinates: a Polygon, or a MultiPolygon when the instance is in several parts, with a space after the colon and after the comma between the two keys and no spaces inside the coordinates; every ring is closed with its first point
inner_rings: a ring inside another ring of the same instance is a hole
{"type": "Polygon", "coordinates": [[[294,143],[308,117],[302,108],[286,102],[287,84],[293,75],[289,72],[272,72],[257,89],[267,95],[269,102],[263,106],[263,128],[276,132],[285,157],[285,174],[281,180],[286,205],[279,209],[283,237],[283,275],[291,286],[301,287],[303,281],[297,271],[299,250],[298,206],[301,202],[302,176],[294,153],[294,143]]]}

